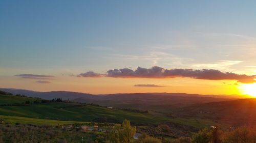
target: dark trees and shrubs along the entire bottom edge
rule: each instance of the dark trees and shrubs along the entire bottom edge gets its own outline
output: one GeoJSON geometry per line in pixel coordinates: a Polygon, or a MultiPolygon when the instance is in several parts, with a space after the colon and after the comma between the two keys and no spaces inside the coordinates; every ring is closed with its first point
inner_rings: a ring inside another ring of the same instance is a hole
{"type": "Polygon", "coordinates": [[[109,125],[105,132],[81,130],[79,124],[66,126],[36,126],[23,124],[0,124],[0,143],[2,142],[91,142],[91,143],[255,143],[256,129],[250,127],[239,127],[222,131],[218,127],[203,129],[190,137],[179,137],[174,140],[165,138],[164,133],[169,132],[167,125],[156,128],[160,137],[142,134],[134,139],[136,128],[132,127],[130,121],[115,126],[109,125]],[[82,140],[83,138],[83,140],[82,140]]]}

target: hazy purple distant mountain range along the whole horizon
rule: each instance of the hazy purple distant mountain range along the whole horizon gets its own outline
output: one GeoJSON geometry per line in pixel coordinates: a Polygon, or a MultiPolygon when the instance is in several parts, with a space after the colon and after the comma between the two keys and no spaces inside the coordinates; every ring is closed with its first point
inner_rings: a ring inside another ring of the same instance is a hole
{"type": "Polygon", "coordinates": [[[52,91],[35,92],[20,89],[0,88],[0,91],[12,94],[24,94],[28,97],[38,97],[41,99],[62,98],[81,103],[94,103],[102,106],[112,106],[117,108],[134,108],[145,110],[167,111],[169,109],[183,107],[198,103],[219,102],[239,99],[238,96],[225,95],[199,95],[185,93],[132,93],[132,94],[108,94],[93,95],[87,93],[52,91]]]}

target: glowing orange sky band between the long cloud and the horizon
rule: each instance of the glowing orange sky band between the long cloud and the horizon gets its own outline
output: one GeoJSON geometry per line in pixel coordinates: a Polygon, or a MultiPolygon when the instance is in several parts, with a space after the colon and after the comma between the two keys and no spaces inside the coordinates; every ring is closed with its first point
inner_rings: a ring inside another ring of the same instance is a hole
{"type": "Polygon", "coordinates": [[[19,77],[1,77],[0,87],[18,88],[34,91],[75,91],[91,94],[110,93],[197,93],[197,94],[240,94],[236,81],[233,80],[202,80],[191,78],[78,78],[74,76],[60,76],[51,83],[35,83],[35,79],[19,77]],[[18,79],[18,80],[17,80],[18,79]],[[135,84],[157,84],[162,87],[134,87],[135,84]]]}

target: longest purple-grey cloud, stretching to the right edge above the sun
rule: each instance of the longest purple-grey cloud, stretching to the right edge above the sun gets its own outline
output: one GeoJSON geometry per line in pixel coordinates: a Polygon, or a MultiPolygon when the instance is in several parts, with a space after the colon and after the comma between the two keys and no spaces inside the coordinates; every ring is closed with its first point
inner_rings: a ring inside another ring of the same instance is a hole
{"type": "Polygon", "coordinates": [[[256,75],[236,74],[232,72],[221,72],[215,69],[164,69],[158,66],[152,68],[138,67],[135,70],[129,68],[109,70],[106,74],[94,73],[92,71],[79,74],[83,77],[116,77],[116,78],[175,78],[175,77],[188,77],[195,79],[208,79],[208,80],[237,80],[242,83],[254,83],[256,75]]]}

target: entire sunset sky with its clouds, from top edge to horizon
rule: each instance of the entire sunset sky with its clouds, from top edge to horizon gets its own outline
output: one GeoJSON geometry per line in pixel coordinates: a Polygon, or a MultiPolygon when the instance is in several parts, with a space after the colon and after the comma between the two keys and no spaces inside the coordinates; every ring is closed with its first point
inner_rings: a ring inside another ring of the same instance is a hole
{"type": "Polygon", "coordinates": [[[247,84],[256,89],[255,6],[0,1],[0,87],[245,94],[247,84]]]}

